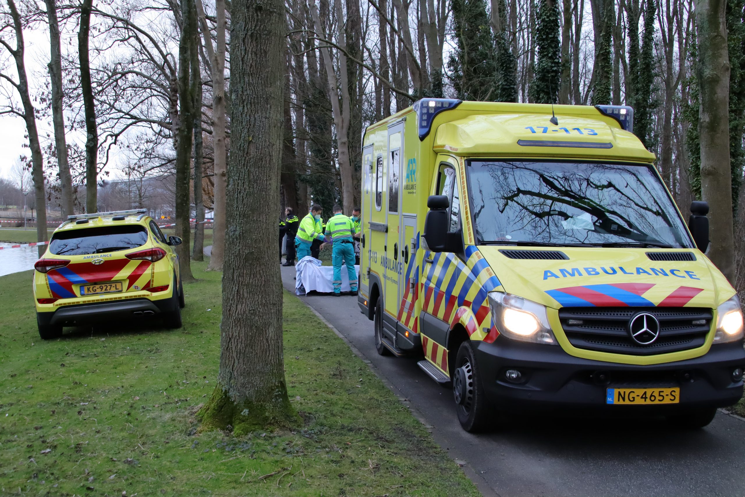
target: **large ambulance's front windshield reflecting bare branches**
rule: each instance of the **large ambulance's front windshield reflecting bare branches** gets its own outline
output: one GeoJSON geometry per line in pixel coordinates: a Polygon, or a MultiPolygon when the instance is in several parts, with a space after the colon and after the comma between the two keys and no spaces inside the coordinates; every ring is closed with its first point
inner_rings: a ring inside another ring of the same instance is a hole
{"type": "Polygon", "coordinates": [[[477,244],[692,247],[651,166],[467,163],[477,244]]]}

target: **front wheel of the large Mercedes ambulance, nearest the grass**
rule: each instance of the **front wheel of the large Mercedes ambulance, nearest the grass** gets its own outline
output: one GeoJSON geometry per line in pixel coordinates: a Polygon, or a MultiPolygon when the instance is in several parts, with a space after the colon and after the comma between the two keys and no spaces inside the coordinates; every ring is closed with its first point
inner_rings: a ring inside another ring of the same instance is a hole
{"type": "Polygon", "coordinates": [[[458,349],[452,379],[458,421],[466,431],[483,431],[492,413],[482,382],[474,346],[466,340],[458,349]]]}

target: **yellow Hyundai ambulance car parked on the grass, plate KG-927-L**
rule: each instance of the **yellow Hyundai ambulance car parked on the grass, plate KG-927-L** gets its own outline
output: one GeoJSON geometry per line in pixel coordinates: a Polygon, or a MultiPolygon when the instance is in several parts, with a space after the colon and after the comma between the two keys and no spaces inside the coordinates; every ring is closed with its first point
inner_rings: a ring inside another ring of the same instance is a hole
{"type": "Polygon", "coordinates": [[[69,216],[34,265],[41,338],[122,318],[162,317],[180,328],[185,303],[173,248],[180,243],[146,209],[69,216]]]}

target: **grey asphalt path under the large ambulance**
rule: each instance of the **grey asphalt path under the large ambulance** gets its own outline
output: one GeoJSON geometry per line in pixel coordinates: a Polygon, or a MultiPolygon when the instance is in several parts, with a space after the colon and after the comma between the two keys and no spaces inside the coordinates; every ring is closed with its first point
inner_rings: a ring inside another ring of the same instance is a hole
{"type": "MultiPolygon", "coordinates": [[[[294,291],[294,268],[282,268],[294,291]]],[[[664,420],[573,420],[551,412],[508,420],[489,434],[463,431],[451,390],[415,358],[375,351],[373,322],[355,297],[301,297],[332,324],[400,398],[432,426],[437,443],[484,495],[745,496],[745,422],[718,413],[707,428],[675,431],[664,420]]]]}

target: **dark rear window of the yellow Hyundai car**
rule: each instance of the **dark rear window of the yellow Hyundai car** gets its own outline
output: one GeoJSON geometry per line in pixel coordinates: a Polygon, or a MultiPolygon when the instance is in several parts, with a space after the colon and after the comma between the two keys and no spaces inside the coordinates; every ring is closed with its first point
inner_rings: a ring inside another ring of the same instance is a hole
{"type": "Polygon", "coordinates": [[[54,233],[49,251],[56,256],[85,256],[142,247],[148,230],[137,224],[71,229],[54,233]]]}

